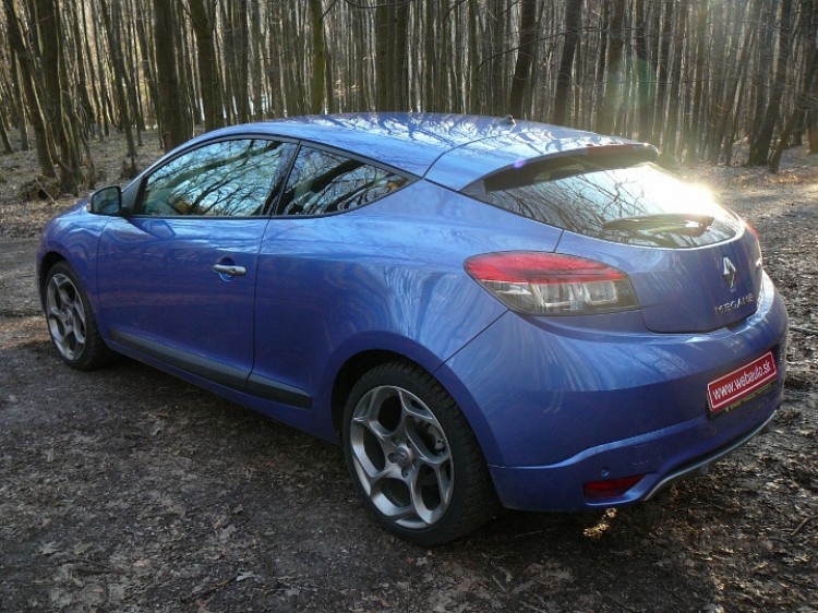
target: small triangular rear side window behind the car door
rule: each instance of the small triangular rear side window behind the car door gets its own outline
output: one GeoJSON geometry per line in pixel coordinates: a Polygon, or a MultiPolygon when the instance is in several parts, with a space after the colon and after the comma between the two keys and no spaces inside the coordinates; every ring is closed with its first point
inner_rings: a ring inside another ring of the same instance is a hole
{"type": "Polygon", "coordinates": [[[384,170],[341,155],[301,147],[281,194],[282,215],[321,215],[363,206],[408,182],[384,170]]]}

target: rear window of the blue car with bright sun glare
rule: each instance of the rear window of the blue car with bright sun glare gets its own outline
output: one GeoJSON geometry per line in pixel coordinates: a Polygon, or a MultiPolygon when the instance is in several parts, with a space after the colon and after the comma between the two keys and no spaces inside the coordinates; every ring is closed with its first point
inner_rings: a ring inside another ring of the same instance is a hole
{"type": "Polygon", "coordinates": [[[550,226],[625,244],[702,247],[742,228],[707,190],[649,163],[601,168],[584,158],[537,161],[485,177],[464,192],[550,226]]]}

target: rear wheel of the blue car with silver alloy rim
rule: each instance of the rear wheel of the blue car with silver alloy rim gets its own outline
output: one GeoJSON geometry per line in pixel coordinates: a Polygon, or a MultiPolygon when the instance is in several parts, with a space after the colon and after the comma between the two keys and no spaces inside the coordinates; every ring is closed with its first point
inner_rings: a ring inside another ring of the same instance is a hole
{"type": "Polygon", "coordinates": [[[342,444],[364,506],[407,541],[453,541],[496,509],[491,477],[466,418],[416,364],[388,362],[361,377],[347,400],[342,444]]]}

